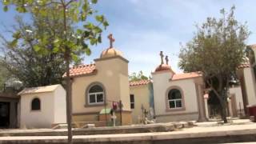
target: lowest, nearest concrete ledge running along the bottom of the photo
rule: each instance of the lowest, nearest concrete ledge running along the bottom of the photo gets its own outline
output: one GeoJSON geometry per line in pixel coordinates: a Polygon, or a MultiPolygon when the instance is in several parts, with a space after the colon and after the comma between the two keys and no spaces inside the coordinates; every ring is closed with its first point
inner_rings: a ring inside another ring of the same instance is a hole
{"type": "MultiPolygon", "coordinates": [[[[254,130],[219,130],[212,132],[195,132],[187,134],[148,133],[148,134],[111,134],[111,135],[81,135],[74,136],[74,144],[210,144],[227,142],[255,142],[254,130]]],[[[66,143],[66,136],[60,137],[0,137],[0,143],[8,144],[44,144],[66,143]]]]}

